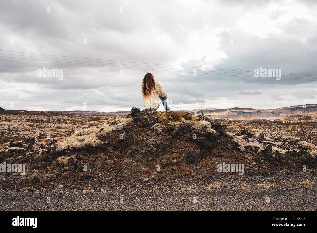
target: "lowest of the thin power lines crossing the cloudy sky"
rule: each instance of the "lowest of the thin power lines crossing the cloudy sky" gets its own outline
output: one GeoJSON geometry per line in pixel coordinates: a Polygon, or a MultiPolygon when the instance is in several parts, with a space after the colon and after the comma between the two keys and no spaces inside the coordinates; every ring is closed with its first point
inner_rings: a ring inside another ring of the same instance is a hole
{"type": "MultiPolygon", "coordinates": [[[[6,57],[6,56],[0,56],[0,57],[6,57]]],[[[23,58],[23,57],[6,57],[6,58],[16,58],[16,59],[36,60],[36,61],[50,61],[50,60],[41,60],[41,59],[23,58]]],[[[62,62],[62,63],[82,64],[82,65],[107,66],[107,67],[118,67],[118,68],[132,68],[132,69],[146,69],[146,70],[149,70],[148,68],[124,67],[124,66],[109,66],[109,65],[87,64],[87,63],[78,63],[78,62],[69,62],[69,61],[52,61],[52,62],[62,62]]],[[[89,62],[89,61],[87,61],[87,62],[89,62]]],[[[184,72],[184,71],[179,71],[179,70],[162,70],[162,69],[151,69],[151,70],[172,71],[172,72],[184,72]]],[[[210,73],[187,72],[187,71],[184,72],[184,73],[210,74],[210,73]]],[[[230,75],[230,74],[213,74],[213,75],[239,76],[239,77],[249,77],[249,78],[254,77],[254,76],[230,75]]],[[[262,77],[262,78],[275,79],[275,78],[270,78],[270,77],[262,77]]],[[[281,79],[281,80],[317,81],[317,80],[305,80],[305,79],[281,79]]]]}

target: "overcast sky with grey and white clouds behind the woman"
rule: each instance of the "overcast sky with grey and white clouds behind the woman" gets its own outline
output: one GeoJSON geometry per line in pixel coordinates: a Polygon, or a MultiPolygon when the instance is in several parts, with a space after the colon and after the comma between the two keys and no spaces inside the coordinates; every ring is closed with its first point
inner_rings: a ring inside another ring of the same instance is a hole
{"type": "Polygon", "coordinates": [[[3,0],[0,107],[143,109],[147,72],[175,110],[317,103],[317,76],[304,76],[317,75],[316,12],[314,0],[3,0]],[[281,79],[254,77],[260,67],[281,79]]]}

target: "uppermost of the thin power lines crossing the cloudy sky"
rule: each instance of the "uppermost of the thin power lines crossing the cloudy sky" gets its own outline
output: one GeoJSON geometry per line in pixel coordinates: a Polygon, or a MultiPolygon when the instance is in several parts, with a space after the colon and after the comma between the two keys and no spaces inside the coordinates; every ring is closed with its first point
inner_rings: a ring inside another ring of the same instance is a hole
{"type": "MultiPolygon", "coordinates": [[[[24,53],[24,54],[46,55],[46,56],[71,57],[71,58],[80,58],[80,59],[91,59],[91,60],[100,60],[100,61],[128,62],[128,63],[138,63],[138,64],[158,65],[158,66],[175,66],[175,65],[163,65],[163,64],[144,63],[144,62],[133,62],[133,61],[116,61],[116,60],[97,59],[97,58],[86,58],[86,57],[72,57],[72,56],[40,54],[40,53],[27,53],[27,52],[17,52],[17,51],[9,51],[9,50],[0,50],[0,51],[13,52],[13,53],[24,53]]],[[[202,69],[202,68],[200,68],[200,67],[192,67],[192,66],[176,66],[176,67],[202,69]]],[[[204,69],[204,68],[203,68],[203,69],[204,69]]],[[[206,68],[206,69],[216,69],[216,68],[206,68]]],[[[216,70],[227,70],[227,71],[252,72],[252,73],[254,73],[254,71],[245,71],[245,70],[230,70],[230,69],[216,69],[216,70]]],[[[317,75],[307,75],[307,74],[286,74],[286,75],[299,75],[299,76],[314,76],[314,77],[317,77],[317,75]]]]}

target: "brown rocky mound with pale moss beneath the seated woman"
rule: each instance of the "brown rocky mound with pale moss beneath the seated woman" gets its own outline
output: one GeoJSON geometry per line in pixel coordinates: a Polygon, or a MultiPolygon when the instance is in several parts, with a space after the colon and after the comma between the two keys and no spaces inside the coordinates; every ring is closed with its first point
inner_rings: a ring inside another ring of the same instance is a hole
{"type": "Polygon", "coordinates": [[[1,174],[3,187],[62,184],[82,189],[87,180],[99,186],[132,182],[137,187],[145,174],[155,181],[218,177],[217,164],[223,162],[244,164],[244,174],[252,176],[277,170],[291,174],[303,165],[316,168],[317,163],[317,147],[307,142],[299,142],[296,150],[282,150],[260,144],[247,130],[226,133],[224,124],[204,115],[139,108],[124,118],[79,130],[59,144],[52,140],[36,147],[34,141],[0,146],[0,163],[27,164],[23,178],[1,174]]]}

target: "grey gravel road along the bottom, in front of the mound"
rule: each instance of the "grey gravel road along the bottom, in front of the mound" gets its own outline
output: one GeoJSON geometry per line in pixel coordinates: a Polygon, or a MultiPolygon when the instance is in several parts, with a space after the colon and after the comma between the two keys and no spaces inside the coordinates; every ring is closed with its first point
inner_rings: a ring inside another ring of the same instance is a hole
{"type": "Polygon", "coordinates": [[[5,210],[265,210],[303,211],[317,210],[315,188],[295,190],[229,191],[226,189],[207,192],[175,193],[165,191],[162,195],[132,194],[120,191],[5,191],[0,197],[0,211],[5,210]],[[50,203],[47,203],[47,197],[50,203]],[[269,203],[267,202],[269,197],[269,203]],[[196,203],[193,203],[196,199],[196,203]],[[121,202],[120,202],[121,200],[121,202]]]}

